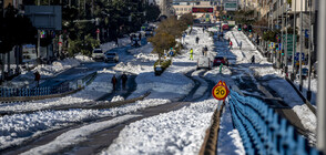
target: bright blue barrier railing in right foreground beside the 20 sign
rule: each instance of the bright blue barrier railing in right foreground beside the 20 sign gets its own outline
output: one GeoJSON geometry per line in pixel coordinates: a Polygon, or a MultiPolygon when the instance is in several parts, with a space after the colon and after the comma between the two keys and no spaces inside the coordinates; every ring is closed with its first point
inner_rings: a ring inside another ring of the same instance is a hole
{"type": "Polygon", "coordinates": [[[242,96],[231,90],[228,96],[234,126],[238,130],[246,154],[318,155],[315,147],[299,135],[287,120],[266,103],[242,96]]]}

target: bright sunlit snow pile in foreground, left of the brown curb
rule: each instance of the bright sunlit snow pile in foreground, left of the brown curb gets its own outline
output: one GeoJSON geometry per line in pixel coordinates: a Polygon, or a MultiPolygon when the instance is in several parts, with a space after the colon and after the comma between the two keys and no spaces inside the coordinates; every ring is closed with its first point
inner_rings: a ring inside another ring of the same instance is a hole
{"type": "Polygon", "coordinates": [[[206,100],[132,123],[102,154],[198,154],[217,105],[206,100]]]}

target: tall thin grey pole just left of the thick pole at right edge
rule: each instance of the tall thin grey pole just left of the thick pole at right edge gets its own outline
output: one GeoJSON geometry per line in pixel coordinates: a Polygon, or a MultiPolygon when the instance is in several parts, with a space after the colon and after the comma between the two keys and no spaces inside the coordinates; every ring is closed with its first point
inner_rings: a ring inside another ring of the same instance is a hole
{"type": "Polygon", "coordinates": [[[299,91],[303,91],[303,56],[302,56],[302,53],[303,53],[303,40],[304,40],[304,34],[303,34],[303,29],[304,29],[304,9],[303,9],[303,6],[304,6],[304,1],[300,0],[300,51],[299,51],[299,91]]]}

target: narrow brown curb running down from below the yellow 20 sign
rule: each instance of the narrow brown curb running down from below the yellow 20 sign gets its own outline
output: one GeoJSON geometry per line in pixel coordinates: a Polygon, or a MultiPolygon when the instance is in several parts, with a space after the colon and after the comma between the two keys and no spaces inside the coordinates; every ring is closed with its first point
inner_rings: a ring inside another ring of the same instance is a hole
{"type": "Polygon", "coordinates": [[[201,147],[200,155],[215,155],[218,140],[220,122],[225,101],[223,101],[221,108],[216,108],[212,116],[212,125],[206,130],[204,143],[201,147]]]}

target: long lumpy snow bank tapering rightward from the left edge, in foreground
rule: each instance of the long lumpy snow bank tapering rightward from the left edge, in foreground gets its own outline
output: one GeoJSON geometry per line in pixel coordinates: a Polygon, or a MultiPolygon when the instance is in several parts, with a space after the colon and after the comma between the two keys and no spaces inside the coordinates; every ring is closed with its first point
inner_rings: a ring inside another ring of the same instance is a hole
{"type": "MultiPolygon", "coordinates": [[[[69,101],[67,101],[69,102],[69,101]]],[[[22,142],[40,136],[47,132],[55,128],[69,127],[72,124],[94,121],[104,116],[118,116],[128,113],[134,113],[139,110],[143,110],[150,106],[157,106],[169,103],[169,100],[144,100],[136,103],[129,104],[122,107],[110,108],[110,111],[103,110],[69,110],[69,111],[40,111],[32,114],[14,114],[4,115],[0,117],[0,149],[9,146],[19,145],[22,142]]],[[[27,105],[28,106],[28,105],[27,105]]],[[[96,125],[93,126],[96,128],[96,125]]],[[[83,134],[84,130],[80,130],[79,133],[83,134]]],[[[69,136],[67,138],[70,140],[69,136]]],[[[83,141],[79,140],[79,141],[83,141]]],[[[60,140],[61,141],[61,140],[60,140]]],[[[62,144],[62,145],[71,145],[62,144]]],[[[51,147],[51,146],[50,146],[51,147]]],[[[50,149],[49,147],[49,149],[50,149]]]]}

